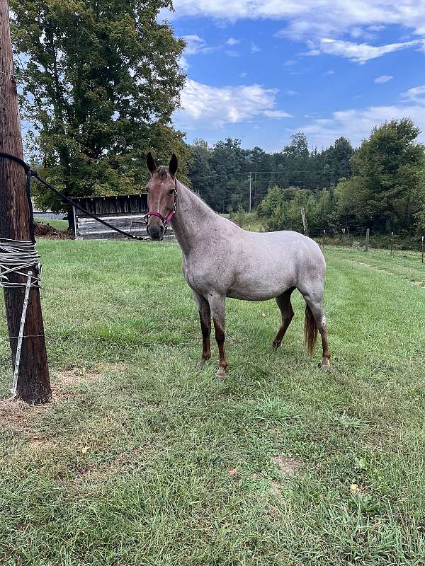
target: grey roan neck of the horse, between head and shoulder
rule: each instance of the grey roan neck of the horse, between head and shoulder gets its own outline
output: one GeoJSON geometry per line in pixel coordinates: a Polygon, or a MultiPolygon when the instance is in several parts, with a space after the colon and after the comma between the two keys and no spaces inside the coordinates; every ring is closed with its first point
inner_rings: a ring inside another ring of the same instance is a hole
{"type": "Polygon", "coordinates": [[[200,243],[200,236],[207,225],[220,220],[220,216],[208,207],[183,183],[177,183],[179,200],[171,227],[185,255],[200,243]]]}

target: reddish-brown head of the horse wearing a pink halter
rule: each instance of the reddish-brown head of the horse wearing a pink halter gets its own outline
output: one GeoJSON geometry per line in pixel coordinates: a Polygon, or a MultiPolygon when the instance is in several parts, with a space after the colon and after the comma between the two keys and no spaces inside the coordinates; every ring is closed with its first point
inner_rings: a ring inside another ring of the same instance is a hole
{"type": "Polygon", "coordinates": [[[169,167],[157,167],[151,152],[147,154],[147,168],[151,178],[147,183],[147,234],[152,240],[162,240],[166,227],[176,212],[178,163],[173,154],[169,167]]]}

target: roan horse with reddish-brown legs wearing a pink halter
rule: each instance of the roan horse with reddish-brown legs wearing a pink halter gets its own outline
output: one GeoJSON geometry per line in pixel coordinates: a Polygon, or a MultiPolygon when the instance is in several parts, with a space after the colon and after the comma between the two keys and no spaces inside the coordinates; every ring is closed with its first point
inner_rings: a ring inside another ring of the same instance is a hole
{"type": "Polygon", "coordinates": [[[200,315],[203,347],[200,369],[211,357],[211,316],[220,354],[217,379],[225,377],[226,297],[245,301],[276,298],[282,323],[273,340],[278,348],[294,316],[290,296],[298,289],[305,299],[305,342],[312,354],[317,330],[322,335],[322,367],[329,366],[323,287],[326,265],[317,243],[292,231],[248,232],[216,214],[176,179],[177,158],[157,167],[147,154],[147,233],[162,240],[171,223],[183,252],[184,278],[193,291],[200,315]]]}

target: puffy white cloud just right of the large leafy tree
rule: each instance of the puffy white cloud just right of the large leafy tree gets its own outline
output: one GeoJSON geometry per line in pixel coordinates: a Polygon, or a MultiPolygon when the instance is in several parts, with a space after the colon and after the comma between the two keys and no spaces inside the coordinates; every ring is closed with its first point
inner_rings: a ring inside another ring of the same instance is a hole
{"type": "Polygon", "coordinates": [[[276,108],[276,94],[276,89],[258,84],[217,87],[188,79],[181,91],[181,109],[175,113],[174,120],[178,127],[194,129],[220,128],[255,116],[290,117],[276,108]]]}

